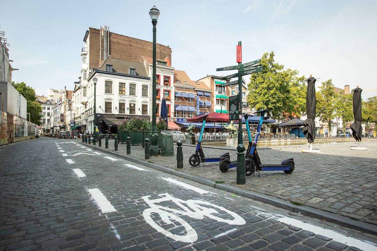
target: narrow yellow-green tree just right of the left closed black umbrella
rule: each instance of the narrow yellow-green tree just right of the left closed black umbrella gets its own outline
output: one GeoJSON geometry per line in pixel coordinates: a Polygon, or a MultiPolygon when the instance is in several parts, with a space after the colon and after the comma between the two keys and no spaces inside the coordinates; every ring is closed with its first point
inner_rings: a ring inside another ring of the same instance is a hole
{"type": "Polygon", "coordinates": [[[328,123],[329,133],[331,133],[331,120],[335,118],[335,93],[331,79],[322,82],[320,91],[316,93],[317,117],[328,123]]]}

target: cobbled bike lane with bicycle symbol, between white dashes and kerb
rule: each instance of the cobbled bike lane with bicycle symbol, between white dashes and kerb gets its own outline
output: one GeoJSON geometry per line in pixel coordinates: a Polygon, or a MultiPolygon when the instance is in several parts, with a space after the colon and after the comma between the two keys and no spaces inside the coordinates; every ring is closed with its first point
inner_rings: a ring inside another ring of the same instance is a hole
{"type": "Polygon", "coordinates": [[[72,175],[105,208],[103,222],[111,224],[112,232],[98,245],[107,243],[115,250],[377,250],[359,240],[367,237],[334,224],[81,146],[73,145],[69,154],[85,177],[72,175]]]}

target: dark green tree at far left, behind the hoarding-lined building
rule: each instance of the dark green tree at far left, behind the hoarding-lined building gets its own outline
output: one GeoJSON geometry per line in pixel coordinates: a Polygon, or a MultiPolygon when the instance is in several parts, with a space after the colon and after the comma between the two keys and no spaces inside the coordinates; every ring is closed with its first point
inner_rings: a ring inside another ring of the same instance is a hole
{"type": "Polygon", "coordinates": [[[35,101],[37,99],[35,97],[35,90],[24,82],[15,84],[13,81],[12,85],[28,102],[26,111],[30,114],[30,122],[41,125],[42,106],[35,101]]]}

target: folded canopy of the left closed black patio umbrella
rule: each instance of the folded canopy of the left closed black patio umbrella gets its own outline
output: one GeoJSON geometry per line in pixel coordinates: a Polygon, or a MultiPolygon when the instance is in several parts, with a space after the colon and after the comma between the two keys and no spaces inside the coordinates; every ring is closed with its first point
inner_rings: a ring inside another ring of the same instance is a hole
{"type": "Polygon", "coordinates": [[[310,78],[307,79],[307,116],[303,122],[304,127],[302,128],[303,134],[308,139],[309,143],[313,143],[316,138],[316,122],[314,118],[316,117],[316,81],[317,79],[313,78],[310,75],[310,78]]]}

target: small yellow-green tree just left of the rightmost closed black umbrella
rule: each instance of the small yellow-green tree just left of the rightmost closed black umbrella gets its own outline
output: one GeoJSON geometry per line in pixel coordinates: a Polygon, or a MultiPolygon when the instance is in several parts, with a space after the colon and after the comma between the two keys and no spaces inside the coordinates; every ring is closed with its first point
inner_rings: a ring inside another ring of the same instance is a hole
{"type": "Polygon", "coordinates": [[[352,94],[345,94],[344,91],[340,91],[335,94],[334,99],[335,117],[342,119],[343,131],[346,131],[346,122],[350,122],[354,119],[352,94]]]}

